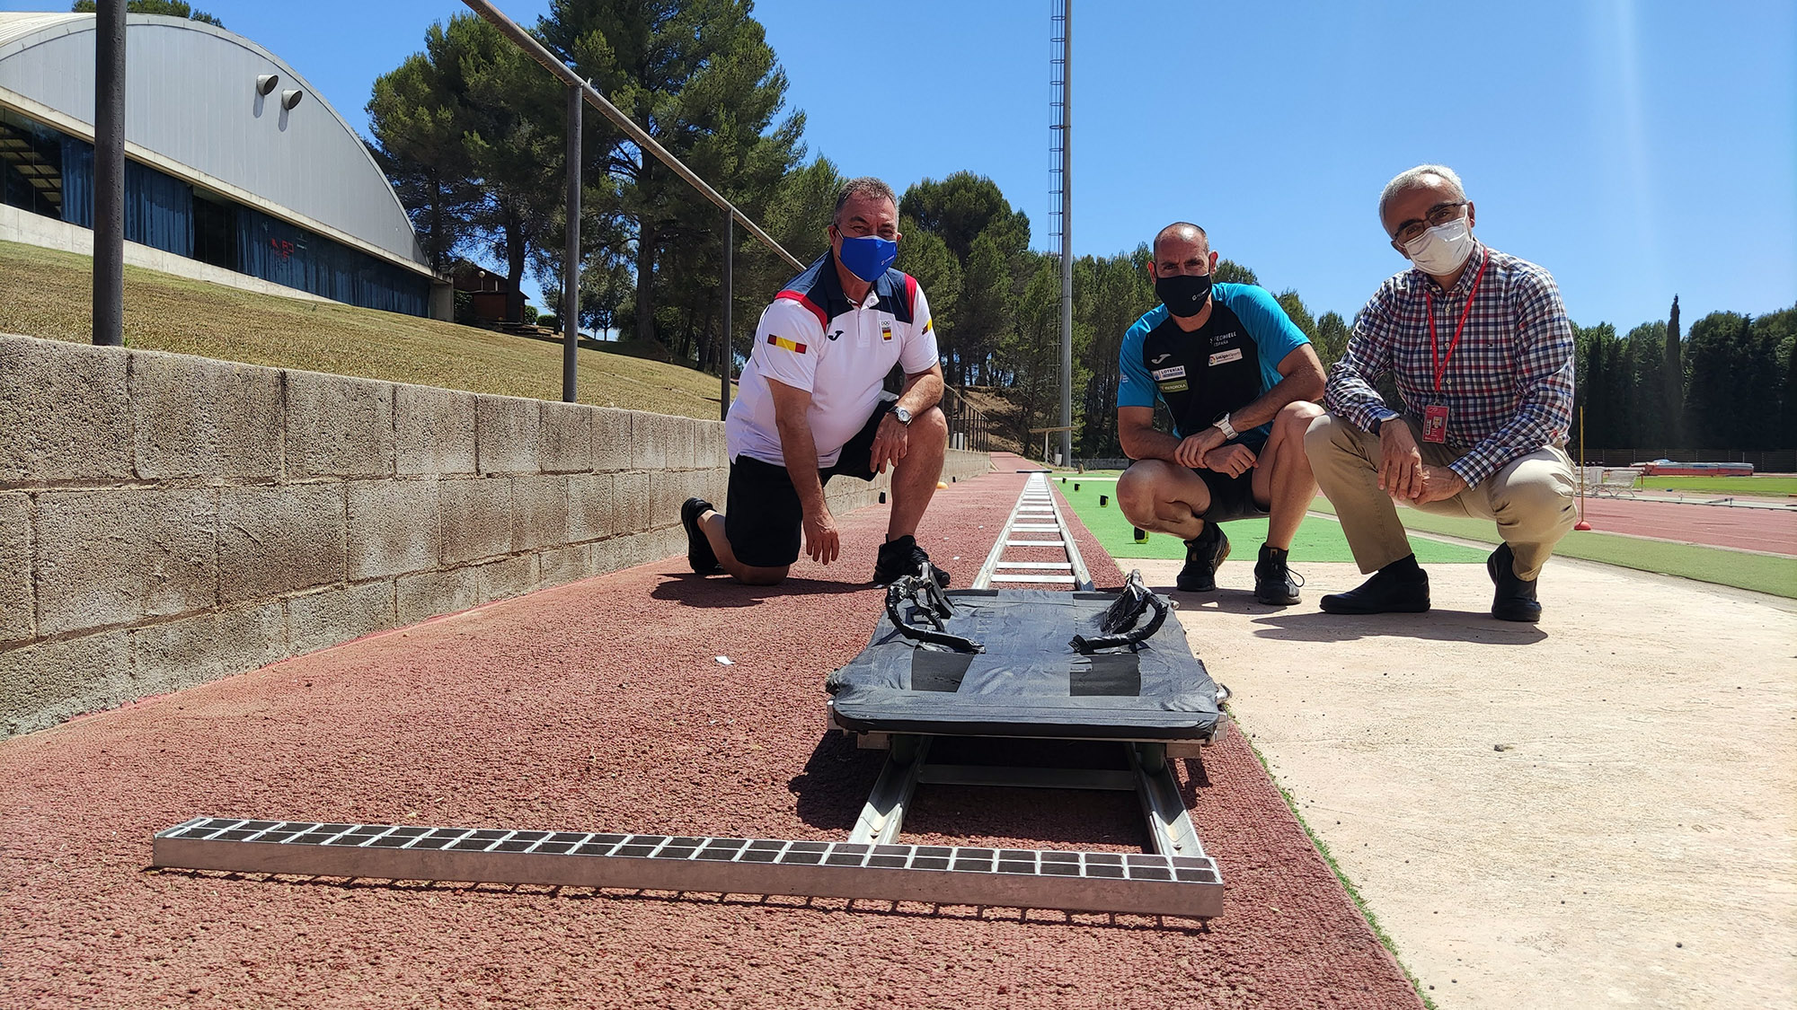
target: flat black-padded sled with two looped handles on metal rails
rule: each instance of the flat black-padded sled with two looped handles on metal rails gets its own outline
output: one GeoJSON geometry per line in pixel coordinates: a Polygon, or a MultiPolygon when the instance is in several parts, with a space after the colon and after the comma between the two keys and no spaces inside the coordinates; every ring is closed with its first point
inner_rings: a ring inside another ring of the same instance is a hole
{"type": "Polygon", "coordinates": [[[1155,854],[1177,861],[1173,879],[1181,864],[1193,873],[1184,915],[1220,913],[1222,877],[1166,758],[1197,757],[1227,726],[1227,690],[1170,609],[1139,571],[1118,593],[943,591],[929,571],[893,582],[888,620],[825,685],[830,724],[888,749],[850,841],[897,843],[918,784],[1134,791],[1155,854]],[[947,737],[1114,740],[1123,767],[931,762],[947,737]]]}

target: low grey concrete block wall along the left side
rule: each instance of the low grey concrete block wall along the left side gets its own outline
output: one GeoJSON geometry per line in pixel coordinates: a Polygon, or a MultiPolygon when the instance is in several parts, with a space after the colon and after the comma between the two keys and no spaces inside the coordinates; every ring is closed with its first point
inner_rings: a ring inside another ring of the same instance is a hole
{"type": "Polygon", "coordinates": [[[685,554],[726,483],[715,421],[0,334],[0,737],[685,554]]]}

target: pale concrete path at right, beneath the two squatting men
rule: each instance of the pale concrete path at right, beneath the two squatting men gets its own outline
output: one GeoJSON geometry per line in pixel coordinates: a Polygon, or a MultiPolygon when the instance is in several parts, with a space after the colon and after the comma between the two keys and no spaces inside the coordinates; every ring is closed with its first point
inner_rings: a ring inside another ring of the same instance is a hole
{"type": "Polygon", "coordinates": [[[1296,568],[1299,606],[1233,561],[1181,620],[1425,996],[1797,1005],[1797,606],[1554,559],[1538,627],[1468,564],[1355,618],[1315,604],[1351,564],[1296,568]]]}

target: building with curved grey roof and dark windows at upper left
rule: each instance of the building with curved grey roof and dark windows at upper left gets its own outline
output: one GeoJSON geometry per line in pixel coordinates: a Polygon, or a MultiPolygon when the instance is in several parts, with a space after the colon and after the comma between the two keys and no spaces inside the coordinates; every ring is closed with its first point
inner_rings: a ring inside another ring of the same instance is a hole
{"type": "MultiPolygon", "coordinates": [[[[93,41],[0,13],[0,239],[92,250],[93,41]]],[[[243,36],[129,16],[126,156],[137,262],[412,315],[442,286],[361,137],[243,36]]]]}

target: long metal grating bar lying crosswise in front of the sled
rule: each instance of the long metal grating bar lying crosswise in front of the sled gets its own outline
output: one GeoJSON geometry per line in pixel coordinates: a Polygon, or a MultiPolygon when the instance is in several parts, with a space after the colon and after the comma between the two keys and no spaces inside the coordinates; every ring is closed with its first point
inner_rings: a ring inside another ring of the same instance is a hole
{"type": "Polygon", "coordinates": [[[156,866],[1211,917],[1204,855],[194,818],[156,866]]]}

